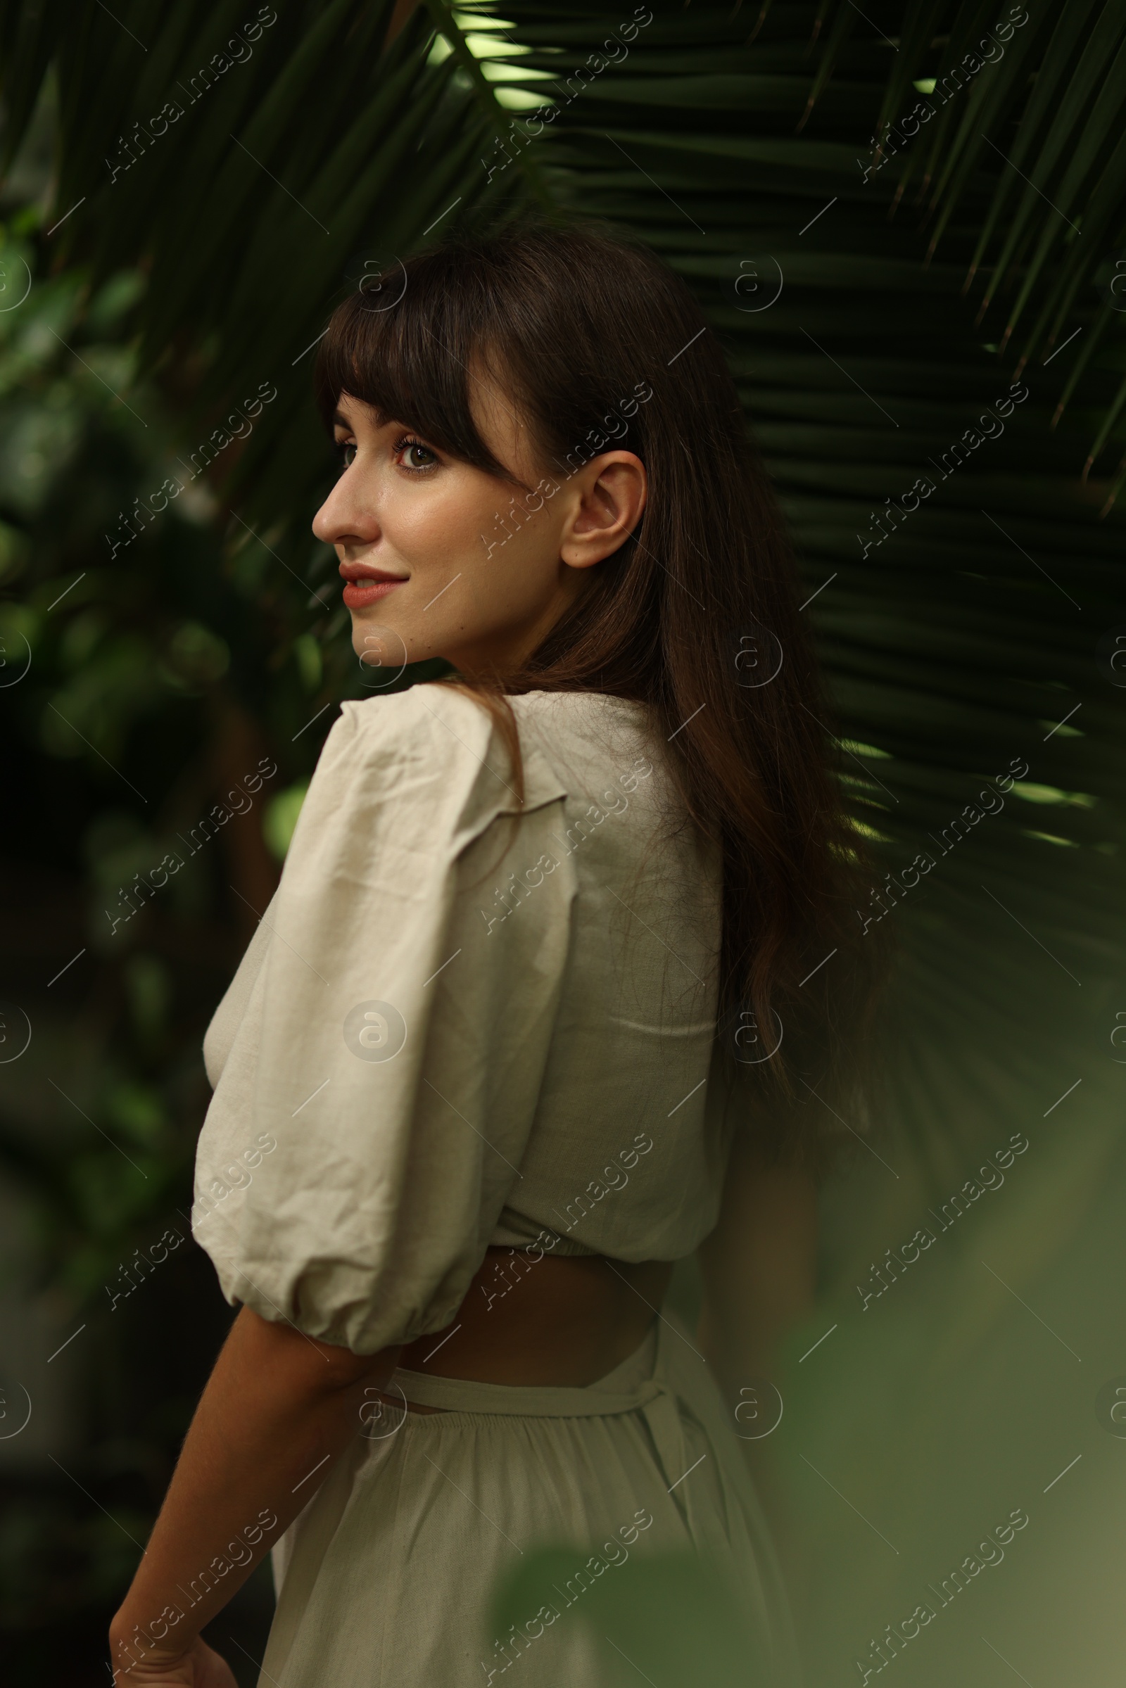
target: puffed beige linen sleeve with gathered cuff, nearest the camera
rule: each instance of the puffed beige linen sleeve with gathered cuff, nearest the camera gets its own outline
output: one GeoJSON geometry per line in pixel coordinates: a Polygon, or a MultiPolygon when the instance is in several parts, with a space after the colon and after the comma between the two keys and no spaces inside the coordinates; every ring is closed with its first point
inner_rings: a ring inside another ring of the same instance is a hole
{"type": "Polygon", "coordinates": [[[228,1301],[356,1354],[452,1320],[567,964],[564,790],[528,744],[523,773],[520,810],[503,734],[452,687],[343,706],[209,1038],[192,1231],[228,1301]]]}

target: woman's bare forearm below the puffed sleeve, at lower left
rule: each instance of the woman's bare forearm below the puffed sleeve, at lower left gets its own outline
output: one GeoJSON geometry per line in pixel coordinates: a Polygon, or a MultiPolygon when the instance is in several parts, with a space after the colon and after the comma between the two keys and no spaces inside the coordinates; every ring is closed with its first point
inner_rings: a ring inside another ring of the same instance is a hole
{"type": "Polygon", "coordinates": [[[360,1355],[240,1310],[113,1619],[115,1681],[228,1680],[199,1631],[324,1482],[360,1431],[365,1386],[397,1362],[398,1349],[360,1355]]]}

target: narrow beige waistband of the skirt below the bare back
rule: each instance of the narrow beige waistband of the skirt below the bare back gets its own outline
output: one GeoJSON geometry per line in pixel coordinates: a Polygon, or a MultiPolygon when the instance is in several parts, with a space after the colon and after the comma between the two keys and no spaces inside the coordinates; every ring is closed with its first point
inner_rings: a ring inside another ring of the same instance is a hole
{"type": "Polygon", "coordinates": [[[653,1379],[657,1318],[638,1347],[598,1382],[584,1388],[554,1384],[478,1382],[471,1377],[436,1377],[398,1367],[387,1384],[402,1389],[407,1403],[441,1406],[447,1413],[513,1413],[532,1418],[594,1418],[633,1413],[662,1393],[653,1379]]]}

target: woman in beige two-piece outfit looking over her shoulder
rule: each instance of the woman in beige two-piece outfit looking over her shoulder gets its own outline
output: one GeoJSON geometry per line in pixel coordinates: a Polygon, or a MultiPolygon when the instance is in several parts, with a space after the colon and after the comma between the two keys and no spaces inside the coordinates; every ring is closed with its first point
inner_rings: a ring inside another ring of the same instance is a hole
{"type": "Polygon", "coordinates": [[[591,1582],[692,1551],[790,1683],[734,1413],[809,1290],[868,949],[731,376],[655,258],[517,230],[346,300],[317,385],[365,679],[452,677],[343,706],[208,1031],[192,1219],[241,1310],[115,1668],[230,1685],[199,1629],[272,1548],[262,1683],[652,1680],[591,1582]],[[539,1546],[566,1587],[493,1634],[539,1546]]]}

